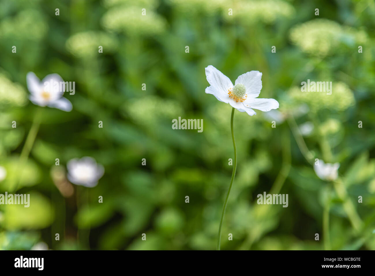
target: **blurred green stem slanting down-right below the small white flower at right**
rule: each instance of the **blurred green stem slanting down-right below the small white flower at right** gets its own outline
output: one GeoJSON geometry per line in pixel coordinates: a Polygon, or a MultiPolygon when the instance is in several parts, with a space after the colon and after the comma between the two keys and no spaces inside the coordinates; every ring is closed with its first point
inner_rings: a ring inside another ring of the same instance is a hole
{"type": "Polygon", "coordinates": [[[337,180],[333,181],[333,187],[335,187],[337,195],[343,202],[342,205],[344,207],[345,213],[347,213],[348,215],[351,225],[358,233],[362,228],[362,220],[357,214],[356,208],[354,208],[353,203],[348,198],[347,189],[344,186],[342,179],[338,178],[337,180]]]}

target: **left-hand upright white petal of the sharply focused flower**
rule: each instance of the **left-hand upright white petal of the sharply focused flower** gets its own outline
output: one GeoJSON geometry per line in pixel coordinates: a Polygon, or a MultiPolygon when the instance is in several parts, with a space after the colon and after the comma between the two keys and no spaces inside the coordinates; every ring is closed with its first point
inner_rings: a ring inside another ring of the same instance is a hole
{"type": "Polygon", "coordinates": [[[205,68],[208,83],[211,85],[206,88],[206,93],[213,94],[219,101],[228,103],[228,89],[233,87],[233,83],[222,72],[208,65],[205,68]]]}

